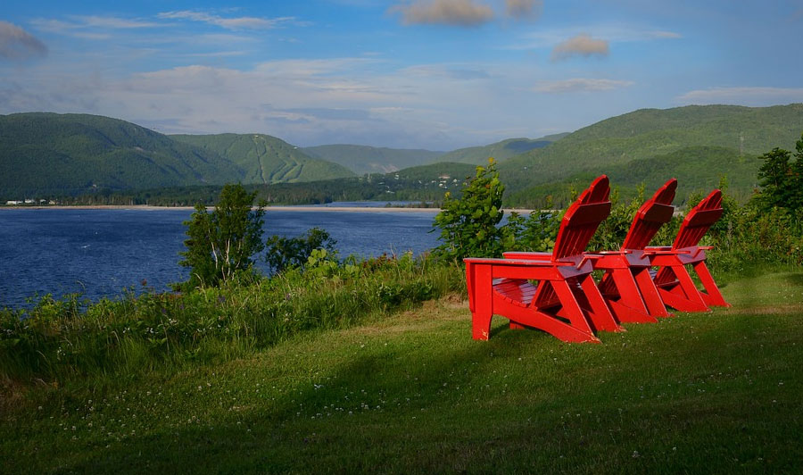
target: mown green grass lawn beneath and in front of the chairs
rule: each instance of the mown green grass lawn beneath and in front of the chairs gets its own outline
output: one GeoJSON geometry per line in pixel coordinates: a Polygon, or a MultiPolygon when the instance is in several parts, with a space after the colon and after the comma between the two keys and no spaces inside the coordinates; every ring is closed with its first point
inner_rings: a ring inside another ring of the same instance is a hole
{"type": "Polygon", "coordinates": [[[4,383],[0,471],[803,471],[803,272],[567,345],[465,302],[111,386],[4,383]]]}

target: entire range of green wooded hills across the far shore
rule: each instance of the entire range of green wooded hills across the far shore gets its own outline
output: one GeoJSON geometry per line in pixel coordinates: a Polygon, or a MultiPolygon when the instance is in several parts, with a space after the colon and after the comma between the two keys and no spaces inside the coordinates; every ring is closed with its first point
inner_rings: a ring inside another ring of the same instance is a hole
{"type": "Polygon", "coordinates": [[[655,189],[674,177],[680,200],[726,178],[731,194],[744,201],[756,186],[757,155],[776,146],[793,149],[801,130],[803,104],[692,105],[643,109],[571,134],[511,138],[434,156],[368,146],[302,149],[261,134],[169,137],[104,117],[13,114],[0,116],[0,199],[80,195],[80,202],[153,204],[158,196],[160,203],[178,204],[198,196],[198,187],[239,181],[268,185],[261,196],[274,203],[440,201],[454,179],[472,175],[469,169],[493,156],[507,206],[540,207],[547,196],[566,204],[572,187],[600,173],[623,196],[633,196],[642,183],[655,189]],[[408,167],[415,162],[441,168],[408,167]],[[393,171],[374,172],[385,170],[393,171]],[[450,179],[442,183],[441,176],[450,179]],[[159,191],[165,187],[170,190],[159,191]],[[181,196],[182,189],[193,191],[181,196]]]}

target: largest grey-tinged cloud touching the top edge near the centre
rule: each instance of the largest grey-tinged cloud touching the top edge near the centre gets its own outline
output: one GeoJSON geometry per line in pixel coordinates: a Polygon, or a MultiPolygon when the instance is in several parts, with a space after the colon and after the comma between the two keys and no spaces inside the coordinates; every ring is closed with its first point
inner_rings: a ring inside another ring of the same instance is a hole
{"type": "Polygon", "coordinates": [[[493,20],[493,9],[474,0],[416,0],[412,4],[393,5],[389,12],[401,13],[405,25],[476,27],[493,20]]]}

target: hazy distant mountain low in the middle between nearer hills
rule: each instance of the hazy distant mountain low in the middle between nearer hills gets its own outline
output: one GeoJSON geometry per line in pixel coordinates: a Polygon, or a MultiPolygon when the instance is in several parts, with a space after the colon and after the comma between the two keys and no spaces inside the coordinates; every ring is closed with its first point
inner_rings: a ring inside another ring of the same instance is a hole
{"type": "Polygon", "coordinates": [[[339,163],[358,175],[388,173],[423,165],[443,154],[431,150],[353,145],[308,146],[302,150],[327,162],[339,163]]]}

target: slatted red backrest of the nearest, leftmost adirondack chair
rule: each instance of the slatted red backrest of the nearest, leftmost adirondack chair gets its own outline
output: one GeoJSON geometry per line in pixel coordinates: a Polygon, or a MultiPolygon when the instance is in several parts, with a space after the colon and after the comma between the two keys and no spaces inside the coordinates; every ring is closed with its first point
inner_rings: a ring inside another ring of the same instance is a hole
{"type": "Polygon", "coordinates": [[[594,232],[610,214],[610,184],[601,175],[571,204],[560,221],[552,260],[582,254],[594,232]]]}

